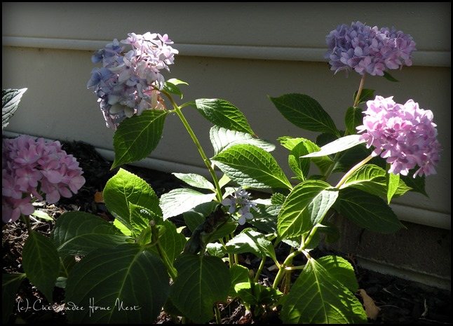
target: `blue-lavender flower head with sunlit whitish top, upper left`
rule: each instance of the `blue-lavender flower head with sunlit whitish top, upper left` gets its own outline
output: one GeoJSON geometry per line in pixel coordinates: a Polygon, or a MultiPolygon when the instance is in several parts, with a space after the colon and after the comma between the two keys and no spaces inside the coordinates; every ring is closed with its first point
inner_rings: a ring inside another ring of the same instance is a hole
{"type": "Polygon", "coordinates": [[[93,54],[93,63],[102,62],[102,67],[93,68],[87,88],[94,89],[107,127],[116,129],[124,118],[140,116],[146,109],[165,109],[159,92],[165,82],[161,70],[170,71],[168,65],[178,53],[170,44],[167,34],[130,33],[93,54]],[[123,53],[122,44],[132,50],[123,53]]]}

